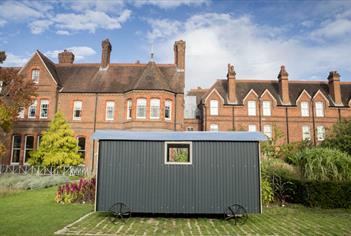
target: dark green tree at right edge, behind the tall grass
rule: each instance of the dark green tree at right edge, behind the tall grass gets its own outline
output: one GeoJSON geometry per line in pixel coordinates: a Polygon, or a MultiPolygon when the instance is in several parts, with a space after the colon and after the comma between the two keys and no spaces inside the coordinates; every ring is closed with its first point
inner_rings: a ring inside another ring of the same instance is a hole
{"type": "Polygon", "coordinates": [[[334,124],[321,146],[338,149],[351,155],[351,119],[334,124]]]}

